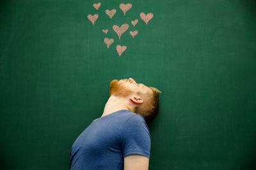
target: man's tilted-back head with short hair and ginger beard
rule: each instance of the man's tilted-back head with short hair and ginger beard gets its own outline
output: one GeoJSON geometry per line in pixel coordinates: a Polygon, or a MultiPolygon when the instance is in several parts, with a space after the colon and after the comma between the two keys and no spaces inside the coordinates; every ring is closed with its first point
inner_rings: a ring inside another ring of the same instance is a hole
{"type": "Polygon", "coordinates": [[[129,108],[138,113],[150,123],[159,112],[159,90],[147,87],[143,83],[136,83],[132,78],[112,80],[109,85],[109,96],[127,99],[129,108]]]}

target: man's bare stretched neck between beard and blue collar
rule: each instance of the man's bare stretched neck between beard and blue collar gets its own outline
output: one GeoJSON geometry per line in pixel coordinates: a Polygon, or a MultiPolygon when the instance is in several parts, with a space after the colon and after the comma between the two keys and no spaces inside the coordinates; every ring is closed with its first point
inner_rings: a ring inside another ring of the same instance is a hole
{"type": "Polygon", "coordinates": [[[122,97],[118,97],[118,96],[110,96],[108,99],[108,102],[105,105],[103,114],[101,117],[104,117],[106,115],[109,115],[111,113],[114,113],[115,111],[119,111],[119,110],[130,110],[131,108],[129,108],[126,103],[124,98],[122,97]]]}

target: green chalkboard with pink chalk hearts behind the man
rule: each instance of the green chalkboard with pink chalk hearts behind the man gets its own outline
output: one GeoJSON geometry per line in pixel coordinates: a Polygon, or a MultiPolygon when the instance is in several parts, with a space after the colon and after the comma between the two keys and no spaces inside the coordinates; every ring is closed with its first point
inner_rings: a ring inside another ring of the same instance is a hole
{"type": "Polygon", "coordinates": [[[109,83],[129,77],[162,92],[150,170],[256,169],[255,1],[0,6],[0,169],[68,169],[109,83]]]}

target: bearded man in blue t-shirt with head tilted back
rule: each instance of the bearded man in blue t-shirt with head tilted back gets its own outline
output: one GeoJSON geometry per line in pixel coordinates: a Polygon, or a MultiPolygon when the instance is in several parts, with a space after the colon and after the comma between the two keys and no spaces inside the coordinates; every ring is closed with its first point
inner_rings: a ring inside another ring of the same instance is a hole
{"type": "Polygon", "coordinates": [[[148,169],[151,137],[147,123],[158,114],[159,93],[132,78],[111,81],[102,116],[72,145],[69,168],[148,169]]]}

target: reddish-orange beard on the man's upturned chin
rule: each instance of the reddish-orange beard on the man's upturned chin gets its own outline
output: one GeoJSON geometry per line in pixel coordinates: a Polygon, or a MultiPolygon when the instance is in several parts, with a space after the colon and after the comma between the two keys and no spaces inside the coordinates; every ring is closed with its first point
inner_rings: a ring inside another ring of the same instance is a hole
{"type": "Polygon", "coordinates": [[[118,83],[118,80],[112,80],[109,85],[109,96],[127,97],[132,94],[132,91],[126,89],[124,85],[118,83]]]}

